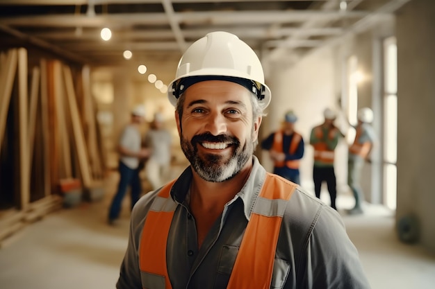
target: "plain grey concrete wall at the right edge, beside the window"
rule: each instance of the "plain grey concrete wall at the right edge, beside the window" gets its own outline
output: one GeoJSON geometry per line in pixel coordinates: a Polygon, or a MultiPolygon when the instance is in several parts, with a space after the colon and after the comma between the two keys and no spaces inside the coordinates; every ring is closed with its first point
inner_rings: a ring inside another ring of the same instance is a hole
{"type": "Polygon", "coordinates": [[[420,242],[435,252],[435,1],[414,0],[397,13],[397,220],[413,213],[420,242]]]}

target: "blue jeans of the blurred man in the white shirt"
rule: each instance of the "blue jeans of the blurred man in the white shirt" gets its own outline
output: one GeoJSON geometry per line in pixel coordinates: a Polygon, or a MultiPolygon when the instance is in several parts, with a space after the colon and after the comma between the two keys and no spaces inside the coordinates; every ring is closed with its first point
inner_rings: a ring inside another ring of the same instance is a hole
{"type": "Polygon", "coordinates": [[[124,199],[124,195],[131,187],[131,208],[138,202],[140,193],[142,192],[142,186],[139,178],[139,168],[129,168],[120,161],[120,183],[118,184],[117,192],[113,196],[112,204],[109,209],[109,220],[115,220],[120,216],[121,204],[124,199]]]}

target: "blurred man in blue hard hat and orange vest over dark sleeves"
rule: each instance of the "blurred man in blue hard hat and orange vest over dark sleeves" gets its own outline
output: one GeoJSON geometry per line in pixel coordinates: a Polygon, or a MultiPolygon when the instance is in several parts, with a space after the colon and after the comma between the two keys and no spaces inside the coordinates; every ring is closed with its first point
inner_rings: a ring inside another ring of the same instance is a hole
{"type": "Polygon", "coordinates": [[[273,173],[300,184],[299,162],[304,156],[304,139],[295,132],[296,114],[290,110],[284,116],[281,130],[272,132],[261,142],[261,148],[269,151],[274,161],[273,173]]]}

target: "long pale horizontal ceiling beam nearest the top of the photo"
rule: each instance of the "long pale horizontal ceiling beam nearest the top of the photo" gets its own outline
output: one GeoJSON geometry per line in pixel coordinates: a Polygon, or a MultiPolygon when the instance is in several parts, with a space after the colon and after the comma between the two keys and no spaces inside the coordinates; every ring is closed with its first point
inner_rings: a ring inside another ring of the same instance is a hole
{"type": "MultiPolygon", "coordinates": [[[[367,11],[202,11],[174,12],[174,20],[184,24],[270,24],[308,21],[334,21],[347,18],[361,18],[370,15],[367,11]]],[[[0,23],[8,26],[58,26],[58,27],[101,27],[132,25],[167,25],[166,13],[117,13],[88,17],[87,15],[30,15],[2,17],[0,23]]]]}

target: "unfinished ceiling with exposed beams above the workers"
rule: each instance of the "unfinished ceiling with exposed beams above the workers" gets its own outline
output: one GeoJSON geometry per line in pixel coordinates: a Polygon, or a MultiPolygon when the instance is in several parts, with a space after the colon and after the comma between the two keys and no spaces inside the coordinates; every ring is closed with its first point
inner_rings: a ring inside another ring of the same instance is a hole
{"type": "Polygon", "coordinates": [[[74,62],[120,65],[179,59],[213,30],[234,33],[261,58],[295,63],[372,28],[411,0],[0,0],[0,50],[28,44],[74,62]],[[340,9],[340,3],[346,3],[340,9]],[[107,42],[101,28],[112,30],[107,42]]]}

